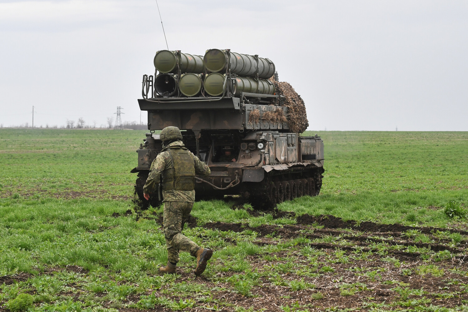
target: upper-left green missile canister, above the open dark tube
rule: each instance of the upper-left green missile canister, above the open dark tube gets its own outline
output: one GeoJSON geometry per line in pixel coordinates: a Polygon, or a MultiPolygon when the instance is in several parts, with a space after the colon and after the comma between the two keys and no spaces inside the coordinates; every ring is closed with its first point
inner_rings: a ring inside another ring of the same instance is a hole
{"type": "Polygon", "coordinates": [[[160,73],[177,73],[177,64],[180,66],[181,73],[205,73],[201,55],[161,50],[154,56],[154,67],[160,73]]]}

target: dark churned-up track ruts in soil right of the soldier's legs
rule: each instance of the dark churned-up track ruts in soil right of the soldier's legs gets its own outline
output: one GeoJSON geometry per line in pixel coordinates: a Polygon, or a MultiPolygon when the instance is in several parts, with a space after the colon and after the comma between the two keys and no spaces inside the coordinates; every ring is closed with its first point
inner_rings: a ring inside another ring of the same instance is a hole
{"type": "MultiPolygon", "coordinates": [[[[257,227],[250,227],[247,223],[223,223],[223,222],[210,222],[203,225],[207,229],[216,229],[219,231],[232,231],[232,232],[243,232],[245,230],[251,230],[257,232],[259,235],[253,243],[256,245],[266,245],[266,244],[275,244],[275,242],[268,239],[266,236],[270,237],[281,237],[283,239],[295,239],[298,237],[304,237],[307,239],[323,239],[325,237],[335,237],[334,242],[307,242],[305,245],[314,247],[317,249],[341,249],[348,252],[356,251],[359,247],[362,252],[376,252],[379,251],[375,245],[385,245],[388,250],[388,254],[393,254],[396,258],[401,260],[416,260],[421,254],[415,250],[410,251],[409,247],[416,248],[425,248],[429,249],[432,252],[441,252],[448,251],[453,254],[457,254],[453,260],[460,259],[465,253],[468,242],[461,241],[457,244],[456,247],[449,246],[451,243],[447,239],[440,239],[433,234],[437,231],[440,232],[450,232],[450,233],[460,233],[468,234],[466,231],[455,231],[452,229],[443,229],[437,227],[412,227],[406,225],[386,225],[386,224],[377,224],[374,222],[366,221],[361,222],[359,225],[355,221],[343,221],[341,218],[336,218],[334,216],[309,216],[302,215],[297,218],[298,225],[260,225],[257,227]],[[313,228],[313,225],[321,225],[323,228],[316,229],[313,228]],[[352,235],[348,229],[358,232],[364,232],[365,234],[356,233],[355,236],[352,235]],[[313,230],[312,233],[307,233],[313,230]],[[421,241],[414,241],[408,237],[404,232],[409,230],[417,230],[420,233],[427,235],[433,243],[426,243],[421,241]],[[348,243],[348,244],[346,244],[348,243]],[[392,247],[401,247],[398,248],[392,247]]],[[[230,241],[230,243],[235,244],[235,241],[230,241]]]]}

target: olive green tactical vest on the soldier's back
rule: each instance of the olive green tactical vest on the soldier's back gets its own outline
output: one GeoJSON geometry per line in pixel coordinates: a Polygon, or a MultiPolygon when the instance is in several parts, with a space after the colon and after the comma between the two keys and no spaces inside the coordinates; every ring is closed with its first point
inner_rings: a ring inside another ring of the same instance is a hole
{"type": "Polygon", "coordinates": [[[165,191],[195,189],[195,165],[190,151],[180,146],[166,147],[162,151],[168,151],[172,160],[171,168],[162,172],[162,189],[165,191]]]}

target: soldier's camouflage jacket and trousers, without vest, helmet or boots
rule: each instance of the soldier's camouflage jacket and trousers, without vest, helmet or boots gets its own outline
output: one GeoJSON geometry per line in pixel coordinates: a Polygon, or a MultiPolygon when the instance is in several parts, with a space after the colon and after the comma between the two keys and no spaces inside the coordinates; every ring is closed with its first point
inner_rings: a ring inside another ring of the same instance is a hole
{"type": "MultiPolygon", "coordinates": [[[[183,148],[183,142],[177,140],[166,146],[165,148],[183,148]]],[[[193,158],[195,173],[201,175],[210,174],[210,168],[195,155],[188,151],[193,158]]],[[[173,168],[172,157],[168,150],[158,154],[156,159],[151,164],[150,173],[143,191],[146,194],[154,193],[158,184],[161,182],[161,174],[168,173],[168,170],[173,168]]],[[[166,181],[162,181],[166,182],[166,181]]],[[[173,263],[179,261],[179,251],[189,252],[190,255],[196,257],[196,252],[200,247],[181,234],[183,224],[189,217],[195,202],[195,190],[175,190],[162,189],[162,197],[164,202],[164,236],[168,248],[168,260],[173,263]]]]}

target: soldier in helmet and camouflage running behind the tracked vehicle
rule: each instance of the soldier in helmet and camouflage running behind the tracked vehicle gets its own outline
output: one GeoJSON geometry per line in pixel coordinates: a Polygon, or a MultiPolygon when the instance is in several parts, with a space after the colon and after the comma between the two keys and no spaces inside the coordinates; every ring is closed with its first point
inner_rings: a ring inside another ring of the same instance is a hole
{"type": "MultiPolygon", "coordinates": [[[[210,168],[184,147],[182,133],[177,127],[162,129],[162,151],[151,164],[143,187],[146,200],[154,196],[162,175],[162,196],[164,202],[164,236],[168,248],[168,264],[159,268],[161,273],[176,273],[179,251],[189,252],[197,258],[195,275],[205,271],[213,251],[202,248],[185,237],[181,231],[195,202],[195,174],[208,175],[210,168]]],[[[157,195],[156,195],[157,196],[157,195]]]]}

